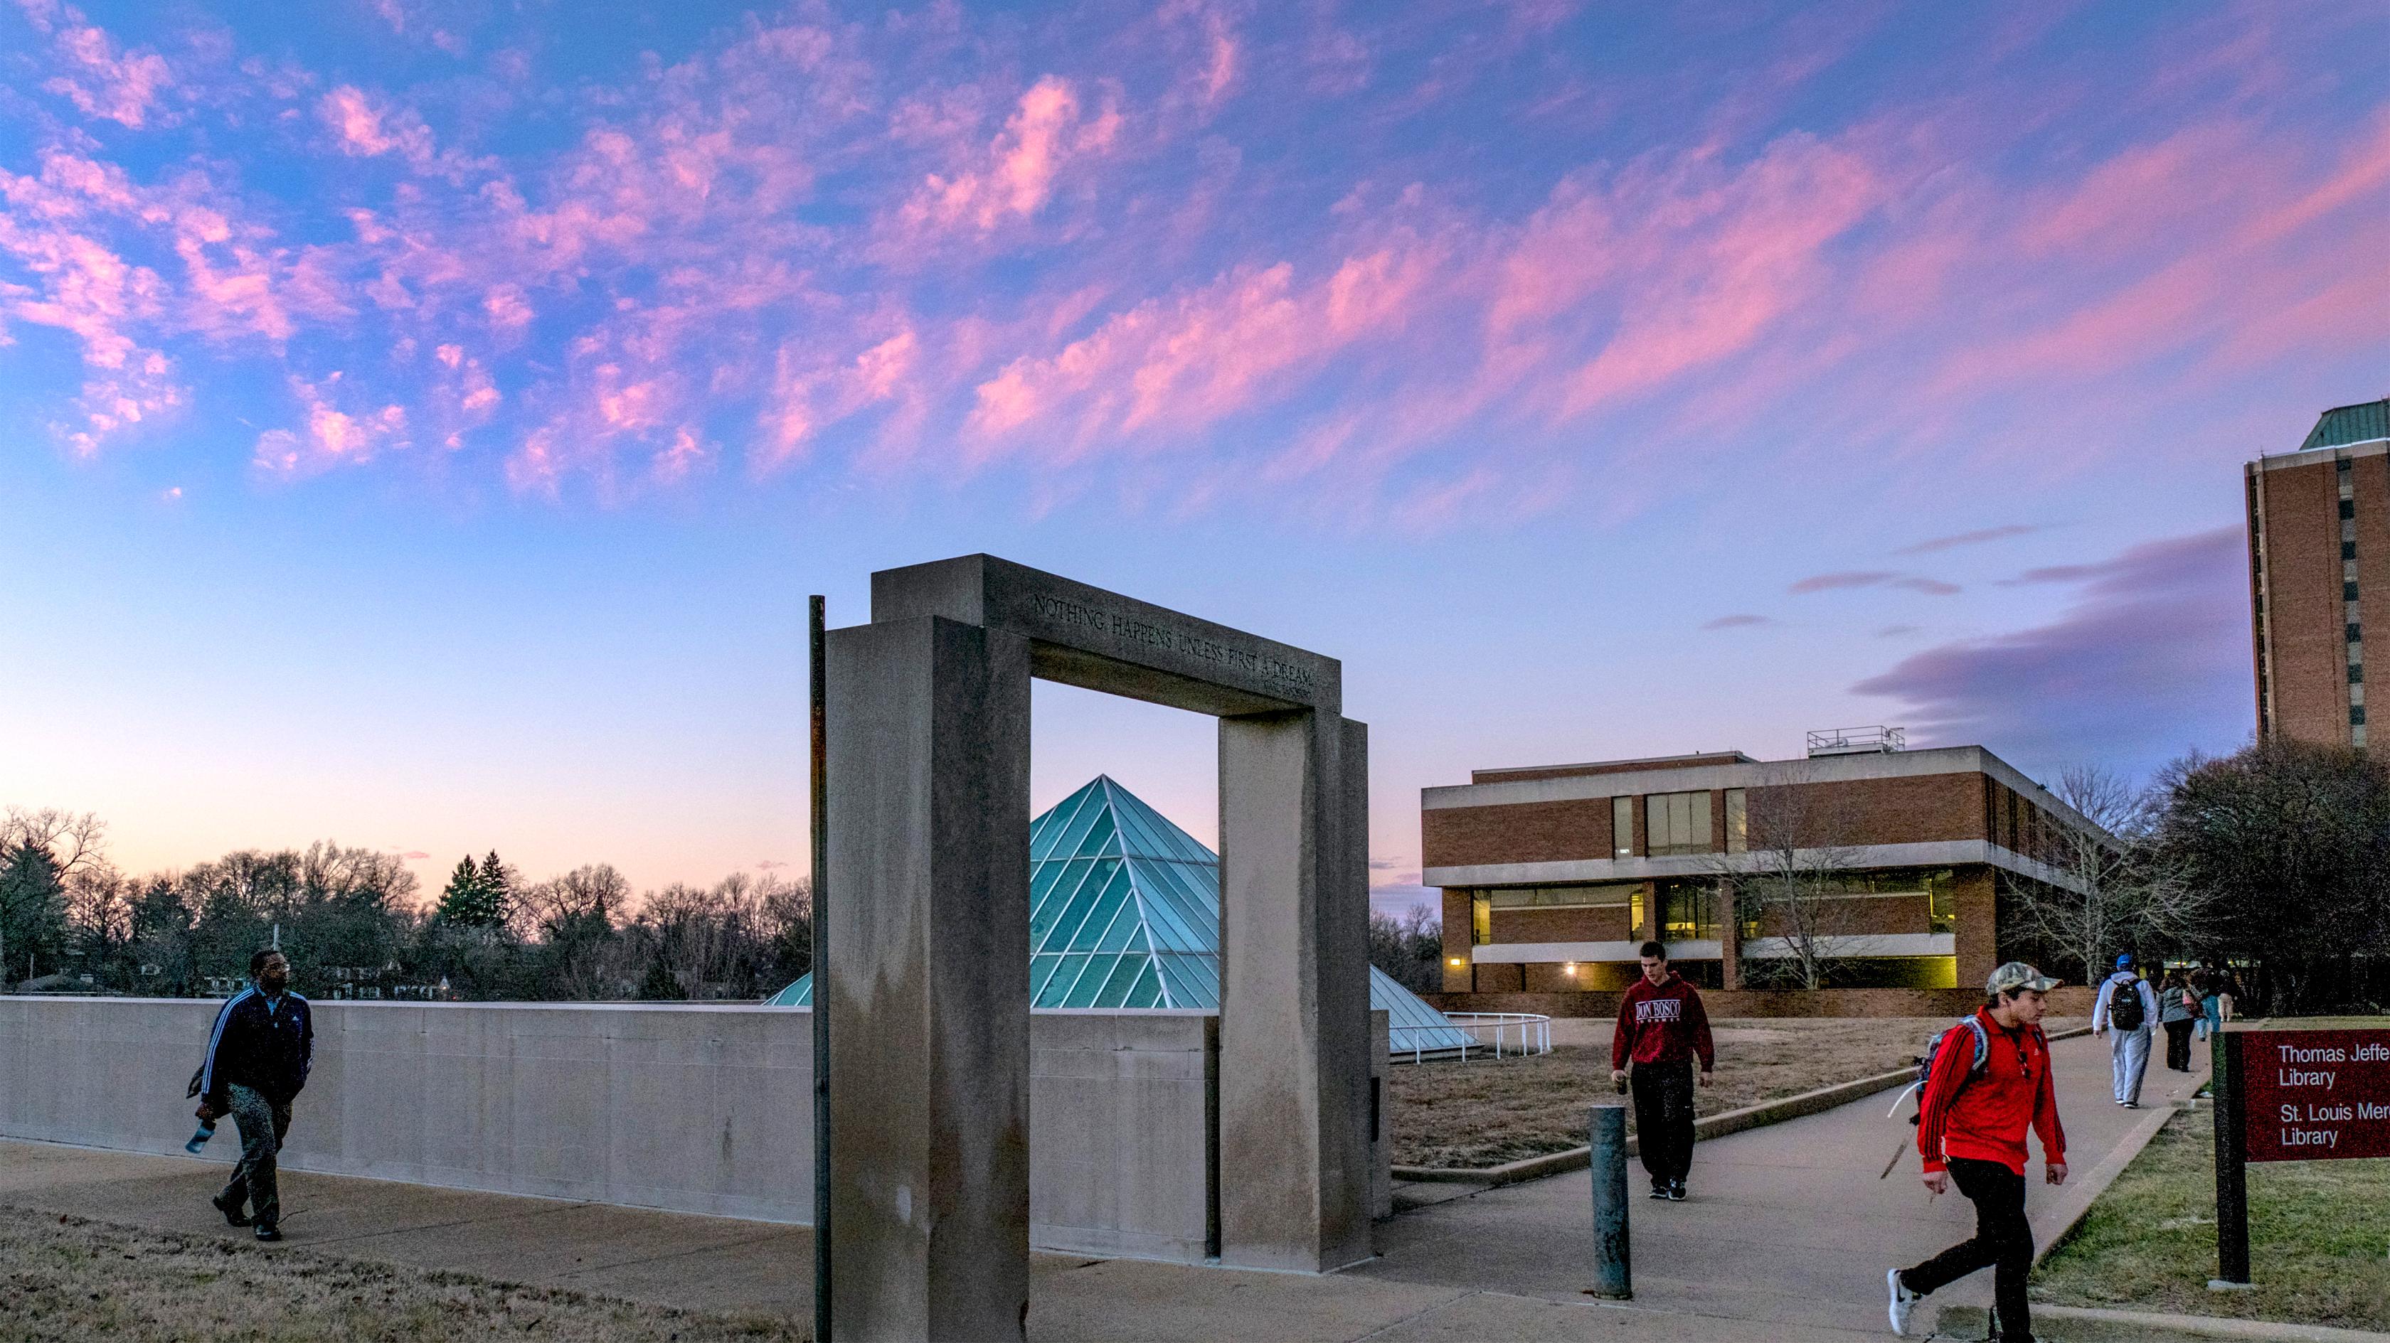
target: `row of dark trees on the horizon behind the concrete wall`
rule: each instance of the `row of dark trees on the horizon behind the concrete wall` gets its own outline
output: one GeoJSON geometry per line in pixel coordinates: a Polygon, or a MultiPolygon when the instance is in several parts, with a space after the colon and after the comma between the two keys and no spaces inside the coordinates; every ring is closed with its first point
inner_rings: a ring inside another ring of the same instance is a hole
{"type": "Polygon", "coordinates": [[[464,858],[433,899],[392,853],[313,844],[127,875],[88,812],[0,815],[0,985],[206,996],[277,942],[311,996],[758,999],[813,968],[803,879],[633,891],[605,863],[526,882],[464,858]]]}

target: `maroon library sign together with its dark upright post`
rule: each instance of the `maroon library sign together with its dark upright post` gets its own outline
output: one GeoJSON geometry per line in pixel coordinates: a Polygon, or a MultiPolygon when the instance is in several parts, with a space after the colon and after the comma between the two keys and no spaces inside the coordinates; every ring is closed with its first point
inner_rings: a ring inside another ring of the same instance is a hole
{"type": "Polygon", "coordinates": [[[2390,1157],[2390,1028],[2216,1035],[2216,1281],[2249,1286],[2249,1161],[2390,1157]]]}

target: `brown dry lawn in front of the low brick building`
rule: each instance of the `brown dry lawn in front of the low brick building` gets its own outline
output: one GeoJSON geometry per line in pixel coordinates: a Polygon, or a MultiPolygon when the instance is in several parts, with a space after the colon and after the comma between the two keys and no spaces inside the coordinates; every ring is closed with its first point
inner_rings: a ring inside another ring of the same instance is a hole
{"type": "MultiPolygon", "coordinates": [[[[1695,1111],[1742,1109],[1912,1066],[1945,1025],[1907,1016],[1714,1020],[1716,1083],[1695,1092],[1695,1111]]],[[[2058,1032],[2079,1023],[2043,1025],[2058,1032]]],[[[1585,1147],[1585,1109],[1616,1094],[1606,1042],[1554,1044],[1551,1054],[1527,1059],[1401,1063],[1389,1071],[1386,1090],[1398,1166],[1472,1169],[1585,1147]]]]}

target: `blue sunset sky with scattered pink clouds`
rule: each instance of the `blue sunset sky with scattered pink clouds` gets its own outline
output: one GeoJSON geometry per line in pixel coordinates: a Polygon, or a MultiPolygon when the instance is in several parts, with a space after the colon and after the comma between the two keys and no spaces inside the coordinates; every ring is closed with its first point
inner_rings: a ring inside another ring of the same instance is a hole
{"type": "MultiPolygon", "coordinates": [[[[2390,392],[2380,5],[0,5],[0,803],[803,867],[803,609],[994,552],[1470,767],[2251,731],[2390,392]]],[[[1209,722],[1042,688],[1214,834],[1209,722]]]]}

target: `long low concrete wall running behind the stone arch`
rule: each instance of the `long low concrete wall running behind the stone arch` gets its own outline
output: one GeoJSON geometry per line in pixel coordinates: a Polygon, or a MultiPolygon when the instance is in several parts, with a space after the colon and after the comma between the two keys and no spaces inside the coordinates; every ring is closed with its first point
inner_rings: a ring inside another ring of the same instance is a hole
{"type": "MultiPolygon", "coordinates": [[[[0,1137],[179,1152],[194,1128],[182,1092],[217,1006],[0,996],[0,1137]]],[[[813,1221],[803,1008],[313,1006],[292,1169],[813,1221]]],[[[1207,1013],[1032,1018],[1037,1247],[1205,1257],[1212,1059],[1207,1013]]],[[[208,1159],[237,1147],[227,1123],[208,1159]]]]}

